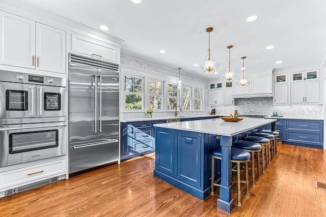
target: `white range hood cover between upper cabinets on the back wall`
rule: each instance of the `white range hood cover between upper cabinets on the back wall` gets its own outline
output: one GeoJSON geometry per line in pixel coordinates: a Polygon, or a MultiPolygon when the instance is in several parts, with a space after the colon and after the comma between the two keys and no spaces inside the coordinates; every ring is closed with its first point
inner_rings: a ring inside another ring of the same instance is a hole
{"type": "Polygon", "coordinates": [[[265,75],[252,75],[249,80],[251,84],[247,87],[239,87],[234,85],[234,98],[250,98],[250,97],[271,97],[272,95],[272,81],[271,73],[265,75]]]}

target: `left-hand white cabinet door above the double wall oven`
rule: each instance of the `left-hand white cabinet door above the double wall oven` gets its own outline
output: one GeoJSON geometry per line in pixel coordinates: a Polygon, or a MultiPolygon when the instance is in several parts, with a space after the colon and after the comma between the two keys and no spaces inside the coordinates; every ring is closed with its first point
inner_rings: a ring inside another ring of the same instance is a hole
{"type": "Polygon", "coordinates": [[[35,69],[35,21],[0,11],[0,64],[35,69]]]}

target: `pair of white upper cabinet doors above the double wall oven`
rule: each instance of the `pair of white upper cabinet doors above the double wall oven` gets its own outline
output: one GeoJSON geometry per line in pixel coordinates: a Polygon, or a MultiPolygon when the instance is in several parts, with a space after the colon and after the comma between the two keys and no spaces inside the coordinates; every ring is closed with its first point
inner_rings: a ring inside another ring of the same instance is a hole
{"type": "Polygon", "coordinates": [[[0,64],[66,73],[66,32],[0,11],[0,64]]]}

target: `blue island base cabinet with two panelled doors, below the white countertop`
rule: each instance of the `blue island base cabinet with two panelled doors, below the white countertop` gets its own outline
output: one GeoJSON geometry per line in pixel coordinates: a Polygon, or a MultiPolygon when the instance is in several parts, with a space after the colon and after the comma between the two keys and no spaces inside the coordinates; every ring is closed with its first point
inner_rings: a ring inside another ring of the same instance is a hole
{"type": "Polygon", "coordinates": [[[209,196],[211,152],[218,147],[216,135],[159,127],[155,131],[154,176],[202,200],[209,196]]]}

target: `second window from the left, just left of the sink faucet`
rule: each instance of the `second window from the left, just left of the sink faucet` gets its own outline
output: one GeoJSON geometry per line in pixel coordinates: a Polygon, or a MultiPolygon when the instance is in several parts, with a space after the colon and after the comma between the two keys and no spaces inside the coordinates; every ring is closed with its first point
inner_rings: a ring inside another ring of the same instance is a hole
{"type": "Polygon", "coordinates": [[[161,81],[149,80],[149,107],[153,109],[161,110],[162,109],[162,85],[161,81]]]}

